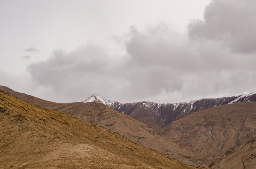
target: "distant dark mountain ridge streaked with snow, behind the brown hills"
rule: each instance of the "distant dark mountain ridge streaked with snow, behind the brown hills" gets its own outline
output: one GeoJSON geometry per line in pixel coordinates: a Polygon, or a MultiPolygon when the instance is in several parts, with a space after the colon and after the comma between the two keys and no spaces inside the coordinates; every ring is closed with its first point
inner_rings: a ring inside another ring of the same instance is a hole
{"type": "Polygon", "coordinates": [[[103,103],[116,111],[130,115],[132,118],[149,125],[160,131],[175,120],[181,119],[190,113],[213,108],[216,106],[239,103],[245,101],[256,101],[256,93],[242,94],[238,96],[223,97],[216,99],[200,99],[181,103],[155,103],[149,101],[135,103],[120,103],[92,95],[89,98],[78,100],[78,102],[103,103]]]}

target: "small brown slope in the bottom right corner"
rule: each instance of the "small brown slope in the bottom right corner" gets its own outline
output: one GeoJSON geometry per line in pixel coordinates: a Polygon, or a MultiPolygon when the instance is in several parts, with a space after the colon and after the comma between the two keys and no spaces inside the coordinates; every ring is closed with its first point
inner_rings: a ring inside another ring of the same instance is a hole
{"type": "Polygon", "coordinates": [[[212,169],[255,169],[256,136],[246,144],[228,150],[221,160],[210,165],[212,169]]]}

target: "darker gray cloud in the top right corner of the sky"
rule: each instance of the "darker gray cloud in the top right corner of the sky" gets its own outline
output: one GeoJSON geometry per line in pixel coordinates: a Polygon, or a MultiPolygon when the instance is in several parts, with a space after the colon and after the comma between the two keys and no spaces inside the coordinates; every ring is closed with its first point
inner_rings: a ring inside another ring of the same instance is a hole
{"type": "Polygon", "coordinates": [[[235,53],[255,53],[255,16],[255,0],[212,0],[205,8],[204,21],[188,25],[189,36],[220,41],[235,53]]]}

